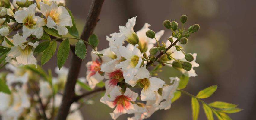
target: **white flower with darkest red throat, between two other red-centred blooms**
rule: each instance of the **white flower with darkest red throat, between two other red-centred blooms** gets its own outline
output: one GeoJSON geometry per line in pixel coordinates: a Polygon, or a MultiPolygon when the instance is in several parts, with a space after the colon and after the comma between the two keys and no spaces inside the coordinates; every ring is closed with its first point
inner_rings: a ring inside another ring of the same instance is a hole
{"type": "Polygon", "coordinates": [[[110,73],[105,73],[105,78],[109,79],[105,82],[105,88],[106,88],[105,94],[109,95],[109,93],[113,90],[113,88],[115,88],[117,83],[124,79],[123,71],[121,69],[115,69],[110,73]]]}

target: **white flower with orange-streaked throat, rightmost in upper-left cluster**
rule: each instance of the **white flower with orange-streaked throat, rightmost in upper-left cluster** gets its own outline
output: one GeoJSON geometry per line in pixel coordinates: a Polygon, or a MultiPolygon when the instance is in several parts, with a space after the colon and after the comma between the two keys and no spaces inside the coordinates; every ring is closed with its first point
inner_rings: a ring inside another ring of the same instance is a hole
{"type": "Polygon", "coordinates": [[[46,17],[48,28],[57,27],[59,35],[66,35],[68,29],[65,26],[73,26],[71,16],[63,6],[52,3],[51,6],[40,2],[41,13],[46,17]]]}

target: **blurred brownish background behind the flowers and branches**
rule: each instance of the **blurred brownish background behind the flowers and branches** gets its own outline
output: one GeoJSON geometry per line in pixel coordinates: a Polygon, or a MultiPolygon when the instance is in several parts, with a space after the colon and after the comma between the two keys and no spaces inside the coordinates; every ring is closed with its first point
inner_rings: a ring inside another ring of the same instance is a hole
{"type": "MultiPolygon", "coordinates": [[[[66,6],[74,14],[80,32],[90,4],[91,0],[66,0],[66,6]]],[[[99,50],[105,49],[108,47],[106,35],[119,32],[119,25],[124,26],[128,18],[137,16],[135,32],[147,22],[155,32],[165,30],[161,41],[166,41],[171,31],[163,27],[163,20],[175,20],[180,24],[180,16],[187,15],[185,28],[198,23],[200,30],[192,34],[188,44],[183,46],[185,52],[198,53],[196,62],[200,67],[194,68],[198,76],[191,77],[184,90],[196,95],[206,87],[218,85],[217,91],[204,101],[239,104],[238,107],[244,110],[229,114],[230,117],[234,120],[253,120],[256,119],[256,16],[253,11],[256,11],[255,2],[246,0],[106,0],[94,33],[100,39],[99,50]]],[[[91,60],[90,50],[88,47],[80,77],[86,76],[85,64],[91,60]]],[[[65,67],[69,67],[70,58],[71,54],[65,67]]],[[[54,71],[56,63],[54,55],[43,68],[54,71]]],[[[179,76],[180,73],[163,67],[158,77],[167,80],[171,77],[169,75],[179,76]]],[[[81,108],[84,119],[111,119],[109,113],[113,109],[100,103],[100,97],[100,94],[89,96],[95,103],[81,108]]],[[[199,119],[207,119],[202,107],[200,109],[199,119]]],[[[189,120],[191,116],[191,98],[182,94],[171,109],[159,110],[147,120],[189,120]]],[[[127,115],[122,115],[118,119],[126,118],[127,115]]]]}

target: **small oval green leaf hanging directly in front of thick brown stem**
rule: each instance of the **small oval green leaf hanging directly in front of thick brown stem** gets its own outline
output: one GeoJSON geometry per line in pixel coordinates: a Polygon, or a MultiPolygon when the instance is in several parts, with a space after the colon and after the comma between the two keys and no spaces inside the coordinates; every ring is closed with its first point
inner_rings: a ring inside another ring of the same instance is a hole
{"type": "Polygon", "coordinates": [[[80,59],[84,59],[86,56],[86,46],[84,44],[83,40],[79,40],[77,44],[75,45],[75,53],[80,59]]]}

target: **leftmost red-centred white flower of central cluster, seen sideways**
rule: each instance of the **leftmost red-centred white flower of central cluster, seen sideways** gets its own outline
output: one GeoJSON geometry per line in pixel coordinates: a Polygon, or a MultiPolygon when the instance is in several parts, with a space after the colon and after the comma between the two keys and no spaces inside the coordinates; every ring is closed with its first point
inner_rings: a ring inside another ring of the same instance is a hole
{"type": "Polygon", "coordinates": [[[89,83],[89,86],[93,89],[95,88],[96,84],[99,83],[104,79],[102,76],[103,72],[101,72],[101,63],[95,59],[90,61],[86,64],[87,72],[86,72],[86,79],[89,83]]]}

